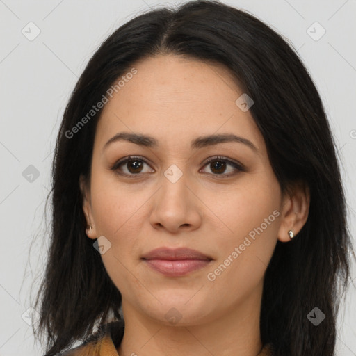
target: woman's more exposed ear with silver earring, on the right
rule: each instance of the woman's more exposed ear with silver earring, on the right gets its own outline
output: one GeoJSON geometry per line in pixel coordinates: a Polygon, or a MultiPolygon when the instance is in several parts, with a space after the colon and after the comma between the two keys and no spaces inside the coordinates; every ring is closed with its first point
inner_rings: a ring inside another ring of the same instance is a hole
{"type": "Polygon", "coordinates": [[[284,194],[282,199],[281,224],[278,230],[278,240],[288,242],[289,231],[291,230],[296,236],[305,225],[310,204],[309,186],[305,182],[293,184],[284,194]]]}

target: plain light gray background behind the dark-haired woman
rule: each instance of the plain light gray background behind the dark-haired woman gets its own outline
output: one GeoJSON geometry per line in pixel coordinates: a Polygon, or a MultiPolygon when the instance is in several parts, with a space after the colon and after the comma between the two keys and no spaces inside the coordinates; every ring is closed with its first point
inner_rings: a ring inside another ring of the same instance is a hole
{"type": "MultiPolygon", "coordinates": [[[[50,164],[74,83],[95,49],[118,26],[149,7],[182,2],[0,0],[0,356],[42,355],[40,346],[33,344],[26,315],[31,283],[38,286],[44,268],[50,164]],[[31,38],[36,31],[38,37],[31,38]]],[[[355,236],[356,1],[223,2],[248,10],[298,49],[337,140],[355,236]]],[[[341,305],[338,356],[356,355],[355,296],[355,286],[350,286],[341,305]]]]}

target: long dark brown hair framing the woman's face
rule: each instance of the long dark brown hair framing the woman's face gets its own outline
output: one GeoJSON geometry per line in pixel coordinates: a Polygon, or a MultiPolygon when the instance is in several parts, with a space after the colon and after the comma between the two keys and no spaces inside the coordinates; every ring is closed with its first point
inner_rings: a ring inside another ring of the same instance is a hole
{"type": "Polygon", "coordinates": [[[282,193],[295,181],[309,186],[307,222],[293,241],[277,242],[264,276],[261,341],[272,343],[279,356],[332,356],[341,291],[347,289],[355,253],[323,104],[298,53],[281,35],[218,1],[156,8],[131,19],[102,43],[76,83],[56,141],[51,241],[35,300],[40,312],[35,336],[47,335],[46,356],[86,340],[111,314],[120,319],[120,291],[85,234],[79,177],[90,179],[101,113],[88,116],[92,106],[136,60],[157,54],[228,67],[254,100],[250,113],[264,136],[282,193]],[[88,120],[79,125],[84,117],[88,120]],[[317,327],[307,318],[314,307],[325,314],[317,327]]]}

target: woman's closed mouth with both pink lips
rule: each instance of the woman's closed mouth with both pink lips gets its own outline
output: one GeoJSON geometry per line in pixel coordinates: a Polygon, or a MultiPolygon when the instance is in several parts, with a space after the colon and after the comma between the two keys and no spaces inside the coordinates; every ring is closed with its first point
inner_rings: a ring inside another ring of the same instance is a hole
{"type": "Polygon", "coordinates": [[[157,248],[142,258],[145,264],[163,275],[178,277],[206,267],[213,260],[188,248],[157,248]]]}

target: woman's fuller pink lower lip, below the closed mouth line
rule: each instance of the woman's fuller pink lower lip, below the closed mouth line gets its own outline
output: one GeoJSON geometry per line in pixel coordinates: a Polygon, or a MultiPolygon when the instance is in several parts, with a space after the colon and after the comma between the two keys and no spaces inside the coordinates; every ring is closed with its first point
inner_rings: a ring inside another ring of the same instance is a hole
{"type": "Polygon", "coordinates": [[[145,259],[144,260],[149,267],[168,276],[186,275],[193,272],[193,270],[199,270],[207,266],[210,260],[207,259],[145,259]]]}

